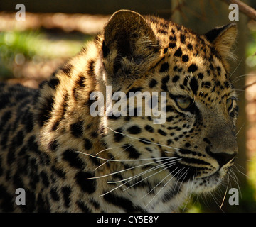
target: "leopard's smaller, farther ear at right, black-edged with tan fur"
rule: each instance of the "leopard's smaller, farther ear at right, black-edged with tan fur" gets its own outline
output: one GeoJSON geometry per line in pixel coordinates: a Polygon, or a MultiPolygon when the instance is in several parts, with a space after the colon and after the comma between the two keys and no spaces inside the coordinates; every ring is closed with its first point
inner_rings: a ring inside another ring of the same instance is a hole
{"type": "Polygon", "coordinates": [[[238,34],[237,26],[235,23],[230,23],[226,26],[214,28],[205,34],[206,38],[213,43],[215,49],[218,50],[220,55],[225,59],[235,59],[231,48],[235,43],[238,34]]]}

